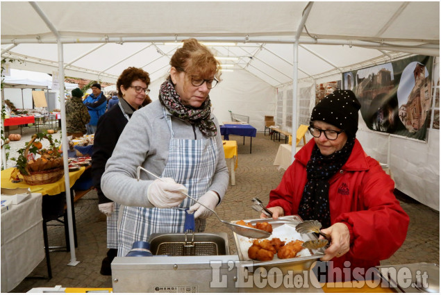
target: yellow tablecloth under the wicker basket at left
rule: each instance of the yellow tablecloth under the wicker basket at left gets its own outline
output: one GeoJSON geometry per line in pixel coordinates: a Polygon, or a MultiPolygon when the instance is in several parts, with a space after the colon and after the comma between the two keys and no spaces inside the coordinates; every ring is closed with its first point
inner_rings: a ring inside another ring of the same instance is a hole
{"type": "MultiPolygon", "coordinates": [[[[55,195],[65,191],[65,176],[59,179],[56,183],[49,183],[47,185],[28,185],[24,181],[13,183],[9,178],[14,168],[8,168],[1,171],[1,187],[8,189],[15,188],[30,188],[31,192],[38,192],[39,194],[55,195]]],[[[78,171],[69,172],[70,187],[74,185],[76,180],[83,174],[85,167],[81,167],[78,171]]]]}

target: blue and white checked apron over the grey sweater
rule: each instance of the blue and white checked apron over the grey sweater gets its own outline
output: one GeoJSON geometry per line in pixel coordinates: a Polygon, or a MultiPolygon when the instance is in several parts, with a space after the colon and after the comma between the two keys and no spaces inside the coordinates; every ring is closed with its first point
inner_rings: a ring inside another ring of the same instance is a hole
{"type": "MultiPolygon", "coordinates": [[[[208,191],[215,174],[217,146],[215,137],[201,140],[181,140],[174,137],[172,119],[165,113],[172,139],[167,165],[161,177],[173,178],[188,188],[188,194],[199,199],[208,191]]],[[[118,256],[125,256],[133,242],[148,241],[153,233],[183,233],[185,209],[194,204],[186,198],[175,208],[126,207],[119,226],[118,256]]],[[[196,222],[196,231],[205,229],[206,220],[196,222]]]]}

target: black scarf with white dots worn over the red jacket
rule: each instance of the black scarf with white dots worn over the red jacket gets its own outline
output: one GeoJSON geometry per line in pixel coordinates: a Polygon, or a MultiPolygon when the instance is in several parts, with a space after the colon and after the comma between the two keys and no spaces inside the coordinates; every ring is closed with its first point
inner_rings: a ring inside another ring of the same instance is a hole
{"type": "Polygon", "coordinates": [[[323,228],[331,226],[328,180],[346,163],[354,143],[355,138],[348,139],[340,151],[327,156],[322,155],[317,146],[314,146],[306,165],[308,181],[299,204],[299,215],[303,220],[320,221],[323,228]]]}

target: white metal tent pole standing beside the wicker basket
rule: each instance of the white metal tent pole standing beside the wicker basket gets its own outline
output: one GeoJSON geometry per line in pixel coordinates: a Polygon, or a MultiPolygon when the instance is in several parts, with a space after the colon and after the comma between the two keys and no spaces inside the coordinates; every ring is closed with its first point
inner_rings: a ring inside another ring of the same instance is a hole
{"type": "Polygon", "coordinates": [[[70,196],[70,180],[69,180],[69,164],[67,163],[67,128],[66,128],[66,106],[65,106],[65,71],[63,67],[63,44],[58,42],[58,90],[60,91],[60,112],[61,112],[61,142],[63,144],[63,165],[65,169],[65,192],[67,205],[67,224],[69,225],[69,246],[70,246],[70,262],[67,264],[71,267],[80,263],[76,261],[75,256],[75,239],[74,226],[72,219],[72,199],[70,196]]]}

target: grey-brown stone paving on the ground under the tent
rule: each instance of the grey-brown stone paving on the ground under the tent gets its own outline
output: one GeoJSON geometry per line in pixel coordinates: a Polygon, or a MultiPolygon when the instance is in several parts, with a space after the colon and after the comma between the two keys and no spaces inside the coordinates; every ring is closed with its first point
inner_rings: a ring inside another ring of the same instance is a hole
{"type": "MultiPolygon", "coordinates": [[[[239,162],[236,170],[236,185],[229,186],[225,199],[217,207],[221,219],[240,220],[255,219],[259,213],[251,209],[251,199],[257,196],[264,204],[268,202],[269,191],[280,182],[283,171],[273,165],[282,142],[273,142],[263,133],[253,139],[253,153],[249,153],[249,140],[232,136],[238,141],[239,162]]],[[[440,214],[417,201],[402,194],[397,196],[403,209],[410,216],[408,235],[403,246],[382,265],[410,264],[417,262],[440,262],[440,214]]],[[[106,255],[106,218],[98,210],[97,194],[92,191],[75,204],[76,230],[78,248],[76,267],[69,267],[70,253],[65,251],[51,252],[53,278],[51,280],[26,278],[12,292],[27,292],[33,287],[112,287],[110,276],[101,276],[101,260],[106,255]]],[[[51,221],[51,224],[56,224],[51,221]]],[[[49,244],[65,246],[63,226],[49,226],[49,244]]],[[[237,253],[233,234],[226,226],[212,216],[207,221],[206,232],[228,233],[231,254],[237,253]]],[[[47,276],[46,260],[31,273],[31,276],[47,276]]]]}

